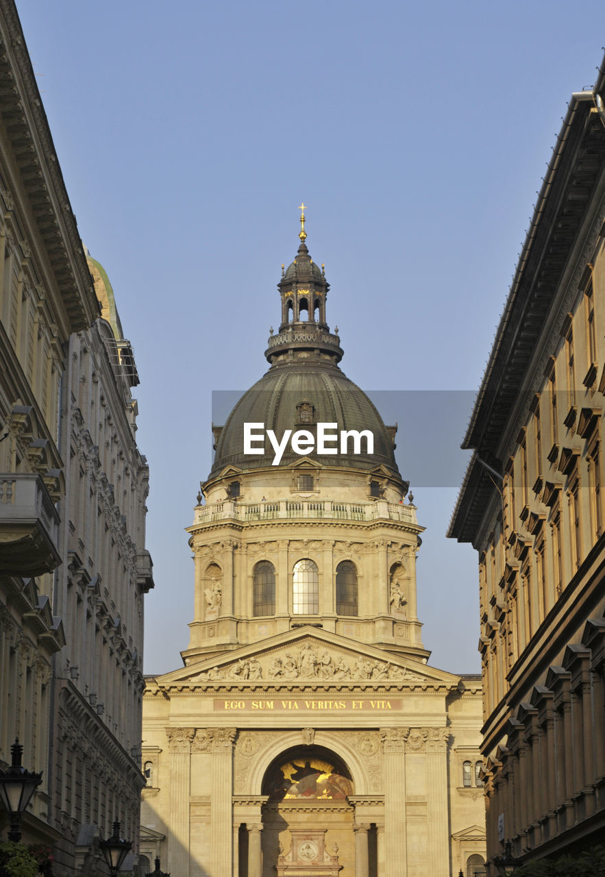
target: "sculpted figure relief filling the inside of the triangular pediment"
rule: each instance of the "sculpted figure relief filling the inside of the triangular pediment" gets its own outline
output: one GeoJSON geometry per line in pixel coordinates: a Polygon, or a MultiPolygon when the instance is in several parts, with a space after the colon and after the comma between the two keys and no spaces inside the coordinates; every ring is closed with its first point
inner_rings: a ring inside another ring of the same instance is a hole
{"type": "Polygon", "coordinates": [[[240,658],[223,667],[210,667],[189,681],[414,681],[423,678],[390,661],[367,655],[335,652],[309,640],[300,648],[240,658]]]}

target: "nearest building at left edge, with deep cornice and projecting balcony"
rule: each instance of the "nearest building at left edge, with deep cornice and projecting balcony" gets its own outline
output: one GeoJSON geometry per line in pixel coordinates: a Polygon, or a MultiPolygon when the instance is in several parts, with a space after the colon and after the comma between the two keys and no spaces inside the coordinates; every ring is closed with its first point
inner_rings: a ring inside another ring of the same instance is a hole
{"type": "Polygon", "coordinates": [[[24,837],[52,844],[48,741],[65,474],[63,346],[99,314],[17,11],[0,3],[0,762],[44,770],[24,837]]]}

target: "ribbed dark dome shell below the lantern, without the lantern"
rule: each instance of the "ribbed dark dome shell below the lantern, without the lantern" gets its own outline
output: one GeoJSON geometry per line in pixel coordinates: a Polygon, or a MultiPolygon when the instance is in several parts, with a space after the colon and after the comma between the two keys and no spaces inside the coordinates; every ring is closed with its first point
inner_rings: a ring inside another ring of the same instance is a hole
{"type": "MultiPolygon", "coordinates": [[[[219,474],[226,466],[243,470],[271,467],[274,449],[267,438],[265,453],[244,453],[246,423],[264,424],[264,430],[273,430],[278,440],[286,430],[308,430],[316,437],[316,444],[317,424],[320,423],[338,424],[331,430],[333,432],[371,431],[374,453],[353,453],[350,439],[350,453],[318,454],[314,451],[310,457],[329,467],[371,471],[383,466],[395,478],[401,477],[395,463],[393,441],[380,414],[363,390],[336,365],[295,361],[291,365],[270,368],[231,411],[217,441],[210,477],[219,474]]],[[[363,439],[361,448],[362,451],[366,448],[363,439]]],[[[288,466],[300,459],[288,443],[280,465],[288,466]]]]}

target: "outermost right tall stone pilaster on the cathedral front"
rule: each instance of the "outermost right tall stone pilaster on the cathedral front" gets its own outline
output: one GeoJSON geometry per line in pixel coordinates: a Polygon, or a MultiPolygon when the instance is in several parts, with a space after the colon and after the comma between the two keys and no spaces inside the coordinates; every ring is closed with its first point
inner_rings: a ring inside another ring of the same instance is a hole
{"type": "Polygon", "coordinates": [[[450,868],[450,828],[448,819],[447,744],[445,728],[427,728],[426,782],[429,848],[433,874],[446,874],[450,868]]]}

